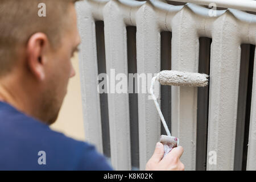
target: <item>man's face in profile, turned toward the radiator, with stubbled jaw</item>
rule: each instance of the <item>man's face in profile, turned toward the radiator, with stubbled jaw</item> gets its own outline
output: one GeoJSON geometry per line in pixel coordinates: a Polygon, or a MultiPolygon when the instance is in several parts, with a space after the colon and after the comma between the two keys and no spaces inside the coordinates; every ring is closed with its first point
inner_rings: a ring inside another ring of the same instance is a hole
{"type": "Polygon", "coordinates": [[[48,125],[56,121],[63,103],[69,78],[75,76],[71,58],[77,51],[77,46],[80,44],[80,36],[77,30],[77,20],[75,6],[72,5],[71,11],[72,20],[69,23],[69,30],[64,32],[62,43],[57,51],[48,55],[48,64],[46,71],[46,81],[43,86],[42,96],[42,118],[47,118],[48,125]]]}

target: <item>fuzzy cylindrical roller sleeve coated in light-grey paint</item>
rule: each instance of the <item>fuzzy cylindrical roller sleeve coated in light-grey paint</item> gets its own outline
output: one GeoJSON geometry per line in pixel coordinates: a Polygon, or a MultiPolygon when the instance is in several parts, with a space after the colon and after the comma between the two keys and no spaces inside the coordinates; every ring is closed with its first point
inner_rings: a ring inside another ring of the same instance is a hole
{"type": "Polygon", "coordinates": [[[173,86],[207,86],[208,75],[201,73],[179,72],[164,70],[159,73],[158,79],[162,85],[173,86]]]}

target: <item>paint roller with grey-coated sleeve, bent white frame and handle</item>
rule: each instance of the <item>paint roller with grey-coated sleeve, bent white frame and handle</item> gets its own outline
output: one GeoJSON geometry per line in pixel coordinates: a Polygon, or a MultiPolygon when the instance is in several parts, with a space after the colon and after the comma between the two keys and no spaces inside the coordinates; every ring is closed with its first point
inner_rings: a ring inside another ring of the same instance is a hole
{"type": "Polygon", "coordinates": [[[158,114],[163,123],[164,129],[166,130],[167,135],[160,136],[160,142],[164,146],[164,156],[166,156],[174,147],[179,145],[179,139],[176,137],[172,137],[167,125],[164,120],[162,111],[156,101],[156,97],[154,95],[154,84],[155,81],[159,81],[161,85],[172,85],[172,86],[207,86],[208,85],[208,75],[203,73],[191,73],[191,72],[180,72],[180,71],[172,71],[172,70],[164,70],[158,73],[157,76],[152,78],[151,86],[150,86],[150,94],[152,99],[154,100],[156,110],[158,110],[158,114]]]}

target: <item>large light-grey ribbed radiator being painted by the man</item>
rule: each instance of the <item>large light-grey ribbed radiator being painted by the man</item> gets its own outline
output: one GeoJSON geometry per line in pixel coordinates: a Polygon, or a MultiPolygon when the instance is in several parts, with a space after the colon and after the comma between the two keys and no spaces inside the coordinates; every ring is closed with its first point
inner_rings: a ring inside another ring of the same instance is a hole
{"type": "Polygon", "coordinates": [[[99,93],[98,75],[173,69],[210,76],[208,88],[159,86],[185,169],[256,170],[256,15],[203,5],[77,3],[85,138],[114,169],[143,170],[163,130],[148,93],[99,93]]]}

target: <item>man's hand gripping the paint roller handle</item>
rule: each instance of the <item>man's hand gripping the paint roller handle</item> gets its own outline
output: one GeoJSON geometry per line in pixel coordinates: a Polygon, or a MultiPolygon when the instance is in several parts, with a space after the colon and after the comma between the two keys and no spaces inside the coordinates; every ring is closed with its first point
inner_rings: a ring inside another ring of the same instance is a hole
{"type": "Polygon", "coordinates": [[[156,143],[155,152],[146,164],[146,171],[184,171],[184,164],[180,162],[183,147],[177,146],[163,158],[163,144],[156,143]]]}

